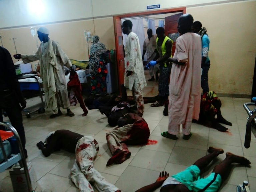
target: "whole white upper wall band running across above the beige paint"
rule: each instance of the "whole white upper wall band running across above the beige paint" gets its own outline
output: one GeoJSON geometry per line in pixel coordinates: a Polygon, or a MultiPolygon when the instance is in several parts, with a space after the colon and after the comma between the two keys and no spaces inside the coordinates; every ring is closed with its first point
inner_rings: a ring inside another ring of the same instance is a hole
{"type": "Polygon", "coordinates": [[[156,4],[167,9],[234,1],[237,0],[0,0],[0,29],[142,12],[156,4]]]}

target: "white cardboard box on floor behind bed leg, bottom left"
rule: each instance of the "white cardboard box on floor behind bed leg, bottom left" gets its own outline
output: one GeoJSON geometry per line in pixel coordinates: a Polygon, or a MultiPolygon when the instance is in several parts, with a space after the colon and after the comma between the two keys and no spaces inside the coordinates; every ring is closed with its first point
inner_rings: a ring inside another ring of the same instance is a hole
{"type": "MultiPolygon", "coordinates": [[[[31,180],[32,190],[36,189],[36,174],[32,167],[32,163],[28,162],[28,172],[31,180]]],[[[14,165],[10,169],[10,176],[12,181],[12,187],[14,192],[29,192],[27,179],[24,173],[24,168],[21,168],[19,165],[14,165]]]]}

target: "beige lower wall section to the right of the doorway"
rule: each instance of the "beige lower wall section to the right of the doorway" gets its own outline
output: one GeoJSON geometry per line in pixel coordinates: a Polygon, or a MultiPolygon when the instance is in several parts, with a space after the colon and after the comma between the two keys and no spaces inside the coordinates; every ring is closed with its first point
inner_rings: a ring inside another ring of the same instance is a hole
{"type": "Polygon", "coordinates": [[[256,53],[256,1],[187,8],[210,38],[209,87],[251,95],[256,53]]]}

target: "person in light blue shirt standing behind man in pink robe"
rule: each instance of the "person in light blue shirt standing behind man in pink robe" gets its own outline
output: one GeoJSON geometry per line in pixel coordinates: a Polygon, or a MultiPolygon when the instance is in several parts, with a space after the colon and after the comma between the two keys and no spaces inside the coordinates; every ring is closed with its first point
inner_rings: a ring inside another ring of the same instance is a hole
{"type": "Polygon", "coordinates": [[[202,75],[201,75],[201,87],[203,89],[203,94],[209,91],[208,85],[208,71],[210,69],[210,59],[208,57],[209,47],[210,47],[210,39],[207,30],[205,27],[202,27],[202,23],[200,21],[195,21],[192,24],[192,32],[197,33],[202,38],[202,75]]]}

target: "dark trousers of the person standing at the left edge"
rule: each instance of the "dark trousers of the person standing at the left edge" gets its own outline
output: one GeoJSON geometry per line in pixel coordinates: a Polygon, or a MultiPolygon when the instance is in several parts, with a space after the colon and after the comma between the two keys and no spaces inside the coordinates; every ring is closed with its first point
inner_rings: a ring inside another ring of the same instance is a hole
{"type": "MultiPolygon", "coordinates": [[[[14,92],[8,91],[6,93],[0,93],[0,109],[5,110],[7,116],[9,117],[9,120],[11,121],[12,126],[16,129],[20,136],[24,153],[27,154],[27,150],[25,149],[26,138],[22,123],[21,107],[18,97],[14,92]]],[[[2,110],[0,110],[0,113],[0,120],[2,121],[2,110]]]]}

